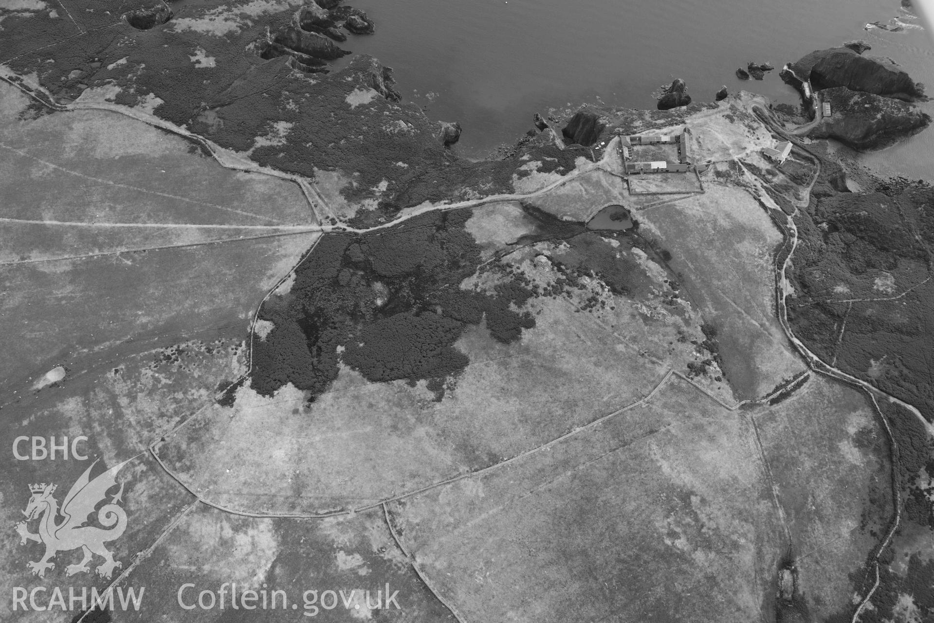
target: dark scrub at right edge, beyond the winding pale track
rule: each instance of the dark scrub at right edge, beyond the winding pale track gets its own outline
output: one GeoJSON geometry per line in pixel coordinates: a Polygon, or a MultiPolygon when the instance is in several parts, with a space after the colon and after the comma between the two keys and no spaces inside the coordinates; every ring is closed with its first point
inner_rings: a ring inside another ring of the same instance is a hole
{"type": "Polygon", "coordinates": [[[877,192],[839,192],[840,166],[822,165],[811,202],[795,217],[800,243],[787,275],[796,293],[786,300],[788,320],[822,360],[934,421],[928,356],[934,284],[924,283],[934,243],[934,188],[884,183],[877,192]],[[891,284],[880,290],[876,280],[883,271],[891,284]],[[852,294],[837,294],[838,284],[852,294]]]}

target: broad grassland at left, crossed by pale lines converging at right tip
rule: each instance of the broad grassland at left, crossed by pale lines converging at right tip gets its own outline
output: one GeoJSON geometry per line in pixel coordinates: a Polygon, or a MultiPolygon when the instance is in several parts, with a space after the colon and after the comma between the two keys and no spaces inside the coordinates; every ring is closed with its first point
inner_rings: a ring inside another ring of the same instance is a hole
{"type": "Polygon", "coordinates": [[[224,169],[120,114],[36,116],[27,104],[0,85],[4,387],[136,352],[133,340],[242,336],[266,289],[317,239],[256,238],[312,222],[288,181],[224,169]]]}

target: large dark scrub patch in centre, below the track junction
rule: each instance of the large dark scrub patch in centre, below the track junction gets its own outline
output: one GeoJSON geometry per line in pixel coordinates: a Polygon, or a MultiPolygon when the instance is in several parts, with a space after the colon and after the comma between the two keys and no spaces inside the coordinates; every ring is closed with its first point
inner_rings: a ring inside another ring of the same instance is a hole
{"type": "Polygon", "coordinates": [[[520,277],[502,271],[492,294],[460,290],[481,264],[464,228],[470,216],[435,212],[359,237],[325,236],[289,294],[260,311],[274,328],[254,342],[252,388],[272,395],[291,382],[314,399],[343,361],[368,381],[431,381],[438,395],[469,363],[454,347],[467,325],[485,319],[495,339],[519,339],[535,325],[513,309],[532,296],[520,277]]]}

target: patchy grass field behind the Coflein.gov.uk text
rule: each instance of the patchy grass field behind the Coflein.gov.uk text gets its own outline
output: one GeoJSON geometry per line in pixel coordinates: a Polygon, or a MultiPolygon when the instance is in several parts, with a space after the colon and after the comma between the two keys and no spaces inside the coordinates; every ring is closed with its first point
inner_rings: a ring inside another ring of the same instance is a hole
{"type": "Polygon", "coordinates": [[[418,578],[381,509],[352,518],[304,520],[238,517],[199,506],[140,563],[129,584],[146,587],[147,620],[456,621],[418,578]],[[233,610],[229,585],[223,610],[179,607],[182,585],[195,585],[182,594],[191,604],[205,589],[219,599],[225,582],[235,582],[238,594],[257,591],[257,606],[265,589],[266,608],[233,610]],[[276,596],[275,608],[273,590],[285,592],[276,596]],[[324,595],[328,590],[336,595],[324,595]],[[369,609],[367,592],[371,606],[382,602],[383,607],[369,609]]]}

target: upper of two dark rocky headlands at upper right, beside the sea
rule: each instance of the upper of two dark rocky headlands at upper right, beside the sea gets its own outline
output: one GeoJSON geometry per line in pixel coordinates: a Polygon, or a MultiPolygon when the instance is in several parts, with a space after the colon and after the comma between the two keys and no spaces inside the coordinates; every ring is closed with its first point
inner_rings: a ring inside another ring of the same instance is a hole
{"type": "Polygon", "coordinates": [[[851,48],[815,50],[789,68],[801,80],[810,78],[814,90],[846,87],[907,102],[924,96],[924,86],[913,82],[895,62],[862,56],[851,48]]]}

